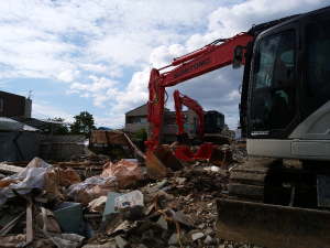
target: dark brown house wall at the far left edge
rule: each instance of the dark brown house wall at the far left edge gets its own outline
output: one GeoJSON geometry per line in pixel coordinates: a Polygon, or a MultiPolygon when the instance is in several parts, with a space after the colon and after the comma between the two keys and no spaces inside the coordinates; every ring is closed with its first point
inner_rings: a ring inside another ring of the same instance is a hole
{"type": "Polygon", "coordinates": [[[19,117],[25,115],[25,97],[0,90],[2,100],[1,117],[19,117]]]}

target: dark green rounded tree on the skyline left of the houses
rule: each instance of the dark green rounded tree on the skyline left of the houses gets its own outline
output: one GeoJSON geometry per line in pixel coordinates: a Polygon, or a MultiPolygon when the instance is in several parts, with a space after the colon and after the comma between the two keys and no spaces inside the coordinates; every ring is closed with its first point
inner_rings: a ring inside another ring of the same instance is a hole
{"type": "Polygon", "coordinates": [[[70,126],[73,134],[86,134],[90,137],[90,131],[95,130],[94,118],[88,111],[80,112],[79,116],[74,116],[75,122],[70,126]]]}

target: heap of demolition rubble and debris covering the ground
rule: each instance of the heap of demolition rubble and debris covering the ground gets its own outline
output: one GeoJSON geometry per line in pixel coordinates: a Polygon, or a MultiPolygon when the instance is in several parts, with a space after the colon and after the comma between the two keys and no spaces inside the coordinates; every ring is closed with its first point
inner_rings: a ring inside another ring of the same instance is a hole
{"type": "Polygon", "coordinates": [[[0,247],[253,247],[216,237],[216,200],[248,160],[243,144],[226,149],[230,163],[183,161],[158,180],[138,159],[87,149],[69,162],[2,162],[0,247]]]}

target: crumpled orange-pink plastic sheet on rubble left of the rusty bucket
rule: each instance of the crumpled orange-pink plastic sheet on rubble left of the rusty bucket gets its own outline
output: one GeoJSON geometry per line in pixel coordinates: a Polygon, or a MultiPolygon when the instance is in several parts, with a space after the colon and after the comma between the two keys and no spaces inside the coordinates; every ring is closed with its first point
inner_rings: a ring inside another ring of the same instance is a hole
{"type": "Polygon", "coordinates": [[[119,161],[117,164],[111,162],[105,164],[102,176],[111,176],[116,175],[118,180],[118,186],[120,190],[125,188],[134,180],[143,179],[142,172],[138,165],[138,163],[131,163],[125,160],[119,161]]]}

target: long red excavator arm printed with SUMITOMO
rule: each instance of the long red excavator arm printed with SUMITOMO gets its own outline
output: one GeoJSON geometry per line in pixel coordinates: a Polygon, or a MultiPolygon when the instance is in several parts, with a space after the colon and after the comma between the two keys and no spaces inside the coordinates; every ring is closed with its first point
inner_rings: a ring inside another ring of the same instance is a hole
{"type": "MultiPolygon", "coordinates": [[[[200,50],[174,58],[169,66],[177,67],[170,72],[161,74],[160,69],[152,69],[147,86],[147,121],[153,125],[154,133],[150,140],[145,141],[148,151],[155,151],[162,147],[165,87],[175,86],[185,80],[233,64],[235,47],[245,47],[252,39],[253,35],[249,33],[240,33],[230,39],[217,40],[200,50]],[[219,42],[223,43],[218,44],[219,42]]],[[[244,57],[242,64],[244,64],[244,57]]]]}

